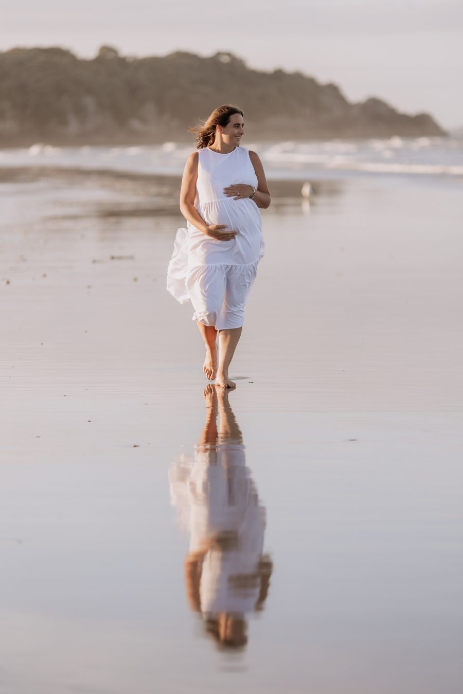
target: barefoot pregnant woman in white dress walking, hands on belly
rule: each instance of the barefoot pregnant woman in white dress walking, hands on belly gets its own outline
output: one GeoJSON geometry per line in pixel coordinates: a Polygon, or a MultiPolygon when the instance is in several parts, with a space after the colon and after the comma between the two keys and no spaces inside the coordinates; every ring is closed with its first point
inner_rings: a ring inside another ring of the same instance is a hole
{"type": "Polygon", "coordinates": [[[219,106],[190,132],[196,135],[197,151],[187,160],[180,191],[187,229],[177,231],[167,289],[180,303],[192,302],[193,320],[205,342],[207,378],[221,388],[235,388],[228,368],[264,255],[258,208],[269,207],[270,193],[258,155],[240,146],[242,110],[219,106]]]}

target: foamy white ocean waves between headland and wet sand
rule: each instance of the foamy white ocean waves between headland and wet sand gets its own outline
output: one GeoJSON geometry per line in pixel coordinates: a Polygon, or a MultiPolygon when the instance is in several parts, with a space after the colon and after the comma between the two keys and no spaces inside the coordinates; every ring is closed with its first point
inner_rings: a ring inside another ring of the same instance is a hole
{"type": "MultiPolygon", "coordinates": [[[[354,174],[463,177],[463,140],[389,137],[326,142],[244,142],[258,151],[269,178],[339,178],[354,174]]],[[[0,167],[109,169],[179,175],[192,144],[56,147],[47,143],[0,150],[0,167]]]]}

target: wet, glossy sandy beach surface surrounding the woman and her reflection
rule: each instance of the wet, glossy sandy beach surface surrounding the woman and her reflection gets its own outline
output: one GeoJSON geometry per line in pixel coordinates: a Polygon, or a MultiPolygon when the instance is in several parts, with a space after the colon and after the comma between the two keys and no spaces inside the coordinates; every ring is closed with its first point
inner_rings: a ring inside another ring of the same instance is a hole
{"type": "Polygon", "coordinates": [[[460,693],[461,182],[286,182],[262,211],[229,402],[273,570],[228,651],[171,505],[207,414],[165,290],[178,180],[0,178],[0,691],[460,693]]]}

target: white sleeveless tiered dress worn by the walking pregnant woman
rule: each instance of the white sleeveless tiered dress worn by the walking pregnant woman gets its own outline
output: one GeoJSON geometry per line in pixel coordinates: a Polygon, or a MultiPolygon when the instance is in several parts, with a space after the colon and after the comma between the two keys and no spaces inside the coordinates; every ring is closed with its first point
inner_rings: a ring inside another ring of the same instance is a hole
{"type": "Polygon", "coordinates": [[[167,291],[180,303],[191,301],[193,320],[217,330],[239,328],[246,299],[264,255],[262,220],[251,198],[233,200],[224,187],[236,183],[257,186],[249,150],[236,147],[220,154],[198,151],[194,206],[209,224],[226,224],[237,235],[230,241],[206,236],[190,222],[177,230],[174,253],[167,269],[167,291]]]}

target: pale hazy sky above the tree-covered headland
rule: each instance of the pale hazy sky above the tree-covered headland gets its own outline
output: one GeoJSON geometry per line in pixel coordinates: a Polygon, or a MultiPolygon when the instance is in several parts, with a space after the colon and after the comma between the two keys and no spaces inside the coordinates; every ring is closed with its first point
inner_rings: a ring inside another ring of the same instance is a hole
{"type": "Polygon", "coordinates": [[[1,0],[0,50],[62,46],[90,58],[231,51],[250,67],[300,70],[351,101],[463,125],[461,0],[1,0]]]}

